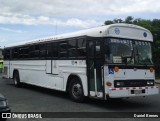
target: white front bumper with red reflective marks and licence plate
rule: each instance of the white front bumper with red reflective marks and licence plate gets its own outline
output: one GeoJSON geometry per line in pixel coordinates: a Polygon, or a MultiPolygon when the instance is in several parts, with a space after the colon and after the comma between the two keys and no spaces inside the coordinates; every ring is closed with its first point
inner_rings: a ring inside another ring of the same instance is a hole
{"type": "Polygon", "coordinates": [[[158,86],[109,88],[110,98],[123,98],[159,94],[158,86]],[[136,93],[140,92],[140,93],[136,93]]]}

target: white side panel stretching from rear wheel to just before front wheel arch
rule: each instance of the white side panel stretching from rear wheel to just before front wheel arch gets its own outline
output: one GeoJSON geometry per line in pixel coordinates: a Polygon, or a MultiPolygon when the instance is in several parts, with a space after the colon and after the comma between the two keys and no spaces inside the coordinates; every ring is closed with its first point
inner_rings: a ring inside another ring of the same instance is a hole
{"type": "Polygon", "coordinates": [[[47,74],[45,60],[15,61],[13,66],[19,71],[20,81],[23,83],[63,90],[63,77],[47,74]]]}

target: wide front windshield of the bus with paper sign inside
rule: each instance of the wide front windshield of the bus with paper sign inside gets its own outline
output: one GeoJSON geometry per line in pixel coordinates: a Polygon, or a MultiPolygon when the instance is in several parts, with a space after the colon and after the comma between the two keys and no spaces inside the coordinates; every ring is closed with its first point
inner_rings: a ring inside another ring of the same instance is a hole
{"type": "Polygon", "coordinates": [[[150,42],[110,38],[105,40],[104,45],[107,63],[153,64],[150,42]]]}

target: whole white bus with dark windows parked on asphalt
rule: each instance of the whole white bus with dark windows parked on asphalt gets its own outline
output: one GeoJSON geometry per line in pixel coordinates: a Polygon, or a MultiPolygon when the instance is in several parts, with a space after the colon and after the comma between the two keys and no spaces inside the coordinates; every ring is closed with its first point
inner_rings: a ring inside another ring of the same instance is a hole
{"type": "Polygon", "coordinates": [[[107,100],[159,93],[152,62],[153,37],[145,28],[112,24],[4,48],[4,77],[107,100]]]}

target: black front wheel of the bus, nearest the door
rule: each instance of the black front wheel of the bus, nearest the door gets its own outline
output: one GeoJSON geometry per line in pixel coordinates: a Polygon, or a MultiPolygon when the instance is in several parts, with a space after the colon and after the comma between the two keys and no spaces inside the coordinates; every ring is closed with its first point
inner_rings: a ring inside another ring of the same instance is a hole
{"type": "Polygon", "coordinates": [[[74,102],[84,101],[84,92],[81,82],[78,78],[72,78],[69,85],[69,95],[74,102]]]}

